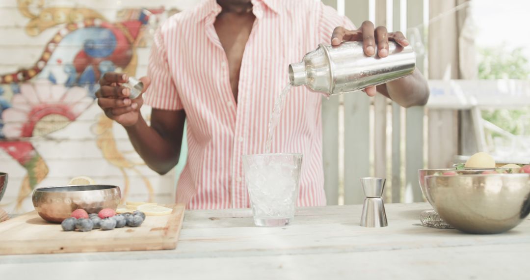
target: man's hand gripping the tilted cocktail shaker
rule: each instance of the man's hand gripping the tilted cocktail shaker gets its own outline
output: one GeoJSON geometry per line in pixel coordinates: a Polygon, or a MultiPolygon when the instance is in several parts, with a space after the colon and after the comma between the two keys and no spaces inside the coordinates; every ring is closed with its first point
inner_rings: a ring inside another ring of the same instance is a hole
{"type": "MultiPolygon", "coordinates": [[[[337,27],[331,35],[331,45],[338,46],[343,41],[360,41],[363,42],[364,52],[367,56],[375,55],[377,49],[379,57],[388,56],[388,40],[395,41],[399,45],[406,47],[409,41],[401,32],[386,31],[386,27],[380,26],[374,28],[371,21],[365,21],[357,30],[347,30],[343,27],[337,27]]],[[[375,86],[368,86],[364,89],[368,96],[374,96],[376,93],[375,86]]]]}

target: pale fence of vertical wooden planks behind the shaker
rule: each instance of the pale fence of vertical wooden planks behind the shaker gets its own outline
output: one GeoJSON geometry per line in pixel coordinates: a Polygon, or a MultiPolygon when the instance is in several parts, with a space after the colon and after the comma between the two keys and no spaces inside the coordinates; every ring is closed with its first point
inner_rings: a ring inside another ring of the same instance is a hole
{"type": "MultiPolygon", "coordinates": [[[[423,0],[323,0],[326,5],[333,7],[343,5],[347,15],[357,27],[369,19],[370,14],[375,14],[375,25],[391,25],[389,32],[402,31],[407,35],[408,28],[416,27],[423,23],[423,0]],[[387,6],[388,3],[391,6],[387,6]],[[375,4],[375,5],[371,5],[375,4]],[[370,6],[375,11],[370,11],[370,6]],[[405,13],[402,7],[407,7],[405,13]],[[388,22],[392,13],[392,21],[388,22]],[[406,22],[406,25],[403,23],[406,22]]],[[[423,33],[420,34],[420,37],[423,33]]],[[[425,38],[420,38],[425,42],[425,38]]],[[[417,65],[423,70],[423,58],[419,57],[417,65]]],[[[333,135],[337,131],[335,127],[326,127],[339,122],[338,107],[344,106],[344,203],[363,203],[364,195],[360,188],[359,178],[366,176],[385,177],[387,180],[387,191],[385,198],[388,202],[422,201],[423,197],[418,186],[417,170],[423,167],[423,107],[403,109],[398,104],[390,102],[383,95],[378,94],[374,99],[366,97],[363,92],[343,95],[343,104],[339,104],[339,98],[324,100],[322,107],[322,118],[324,124],[324,172],[325,189],[328,204],[337,204],[335,191],[338,189],[337,182],[341,178],[337,176],[338,162],[330,162],[338,159],[335,155],[335,145],[339,139],[333,135]],[[374,110],[374,127],[370,127],[370,106],[374,110]],[[406,112],[402,120],[401,115],[406,112]],[[392,123],[387,123],[388,114],[392,116],[392,123]],[[401,134],[403,125],[406,124],[401,134]],[[372,130],[373,129],[373,130],[372,130]],[[392,137],[387,139],[387,129],[391,129],[392,137]],[[370,148],[370,132],[373,132],[374,143],[370,148]],[[403,139],[406,139],[403,145],[403,139]],[[391,145],[387,142],[391,141],[391,145]],[[391,147],[391,153],[387,150],[391,147]],[[404,148],[402,148],[404,147],[404,148]],[[405,151],[403,154],[402,151],[405,151]],[[328,154],[329,153],[329,154],[328,154]],[[374,171],[370,172],[370,154],[374,156],[374,171]],[[404,167],[402,161],[405,159],[404,167]],[[387,162],[391,160],[390,170],[387,170],[387,162]],[[404,169],[405,172],[402,172],[404,169]],[[403,174],[405,178],[403,178],[403,174]],[[406,182],[405,186],[402,182],[406,182]],[[406,187],[404,189],[403,187],[406,187]],[[409,194],[408,199],[403,196],[403,191],[409,194]],[[392,199],[388,199],[391,195],[392,199]]],[[[339,136],[340,137],[340,136],[339,136]]]]}

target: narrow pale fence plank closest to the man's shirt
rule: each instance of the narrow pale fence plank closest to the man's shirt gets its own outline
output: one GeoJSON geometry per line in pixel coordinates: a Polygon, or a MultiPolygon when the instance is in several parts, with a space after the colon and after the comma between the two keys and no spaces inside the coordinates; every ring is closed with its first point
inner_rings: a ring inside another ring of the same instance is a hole
{"type": "MultiPolygon", "coordinates": [[[[337,8],[337,0],[323,0],[337,8]]],[[[328,205],[339,203],[339,99],[322,98],[322,153],[324,161],[324,191],[328,205]]]]}

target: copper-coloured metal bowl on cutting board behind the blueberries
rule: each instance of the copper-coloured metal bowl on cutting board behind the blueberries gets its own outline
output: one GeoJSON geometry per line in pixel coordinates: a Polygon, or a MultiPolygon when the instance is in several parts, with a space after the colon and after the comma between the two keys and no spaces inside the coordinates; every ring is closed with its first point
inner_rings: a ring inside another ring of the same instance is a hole
{"type": "Polygon", "coordinates": [[[60,223],[75,209],[98,213],[103,208],[116,210],[121,191],[112,185],[44,187],[33,191],[33,206],[46,221],[60,223]]]}

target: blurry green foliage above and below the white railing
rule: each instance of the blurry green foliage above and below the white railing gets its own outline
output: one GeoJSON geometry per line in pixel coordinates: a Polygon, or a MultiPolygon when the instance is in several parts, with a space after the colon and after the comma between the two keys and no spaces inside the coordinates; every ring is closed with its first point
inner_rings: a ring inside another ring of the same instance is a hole
{"type": "MultiPolygon", "coordinates": [[[[527,79],[530,78],[528,58],[524,56],[523,48],[508,50],[501,46],[497,48],[479,49],[479,78],[492,79],[527,79]]],[[[530,115],[530,108],[518,110],[491,109],[483,110],[482,117],[490,123],[520,135],[523,133],[523,124],[519,121],[521,116],[530,115]]],[[[493,136],[497,136],[493,133],[493,136]]]]}

